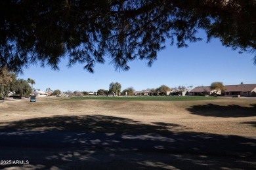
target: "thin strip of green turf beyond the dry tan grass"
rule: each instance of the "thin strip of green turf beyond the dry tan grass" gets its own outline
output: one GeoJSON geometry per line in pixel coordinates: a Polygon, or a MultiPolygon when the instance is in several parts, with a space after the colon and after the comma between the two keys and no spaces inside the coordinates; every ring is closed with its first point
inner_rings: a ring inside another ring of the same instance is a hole
{"type": "Polygon", "coordinates": [[[106,96],[88,96],[71,97],[68,100],[115,100],[115,101],[198,101],[198,100],[216,100],[221,97],[203,97],[203,96],[132,96],[132,97],[106,97],[106,96]]]}

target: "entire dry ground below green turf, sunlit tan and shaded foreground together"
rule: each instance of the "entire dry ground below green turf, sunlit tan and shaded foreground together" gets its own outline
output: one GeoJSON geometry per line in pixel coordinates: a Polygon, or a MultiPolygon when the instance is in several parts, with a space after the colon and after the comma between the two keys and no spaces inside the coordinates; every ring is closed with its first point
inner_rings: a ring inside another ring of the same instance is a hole
{"type": "Polygon", "coordinates": [[[256,169],[256,100],[1,102],[0,150],[7,170],[256,169]]]}

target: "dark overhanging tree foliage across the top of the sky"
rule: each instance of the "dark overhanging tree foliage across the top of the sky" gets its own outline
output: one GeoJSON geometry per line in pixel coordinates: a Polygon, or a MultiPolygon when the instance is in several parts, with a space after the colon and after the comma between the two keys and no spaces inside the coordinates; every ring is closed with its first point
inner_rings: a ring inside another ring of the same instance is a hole
{"type": "MultiPolygon", "coordinates": [[[[84,63],[93,73],[106,58],[127,71],[133,59],[151,66],[165,41],[178,47],[200,41],[198,29],[224,46],[255,54],[254,0],[0,1],[0,67],[20,72],[40,63],[58,69],[84,63]]],[[[256,58],[255,58],[256,62],[256,58]]]]}

